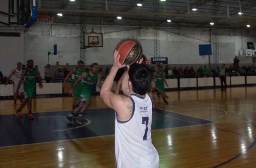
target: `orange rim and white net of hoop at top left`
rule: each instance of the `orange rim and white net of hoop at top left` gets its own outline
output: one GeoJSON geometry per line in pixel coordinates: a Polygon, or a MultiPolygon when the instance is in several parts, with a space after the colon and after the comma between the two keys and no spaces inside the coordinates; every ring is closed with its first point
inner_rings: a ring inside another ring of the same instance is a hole
{"type": "Polygon", "coordinates": [[[52,28],[52,23],[54,21],[54,16],[37,16],[37,22],[41,26],[41,34],[42,36],[50,36],[50,31],[52,28]]]}

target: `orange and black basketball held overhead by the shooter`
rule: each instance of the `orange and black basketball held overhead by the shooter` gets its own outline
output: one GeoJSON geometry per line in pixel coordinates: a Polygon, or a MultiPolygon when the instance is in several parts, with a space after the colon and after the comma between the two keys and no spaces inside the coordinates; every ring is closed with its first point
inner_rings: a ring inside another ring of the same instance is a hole
{"type": "Polygon", "coordinates": [[[124,40],[118,44],[116,51],[120,55],[119,62],[125,65],[131,65],[142,57],[141,46],[133,40],[124,40]]]}

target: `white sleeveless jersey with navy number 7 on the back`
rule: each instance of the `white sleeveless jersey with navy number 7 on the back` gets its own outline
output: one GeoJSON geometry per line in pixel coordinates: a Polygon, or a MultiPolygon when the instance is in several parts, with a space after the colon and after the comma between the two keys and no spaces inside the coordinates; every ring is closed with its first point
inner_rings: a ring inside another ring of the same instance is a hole
{"type": "Polygon", "coordinates": [[[115,151],[118,168],[158,168],[159,156],[151,140],[152,101],[146,94],[129,96],[133,102],[131,118],[115,122],[115,151]],[[135,103],[136,102],[136,103],[135,103]]]}

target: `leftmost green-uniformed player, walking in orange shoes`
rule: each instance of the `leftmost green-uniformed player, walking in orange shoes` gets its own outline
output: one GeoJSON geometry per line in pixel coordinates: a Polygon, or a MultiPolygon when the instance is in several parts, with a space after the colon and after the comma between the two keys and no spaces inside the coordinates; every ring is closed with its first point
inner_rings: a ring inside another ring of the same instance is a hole
{"type": "Polygon", "coordinates": [[[21,110],[22,108],[27,104],[28,106],[28,118],[33,120],[34,117],[31,113],[31,107],[32,107],[32,97],[34,93],[34,89],[36,86],[36,80],[39,80],[38,87],[43,88],[42,85],[42,78],[40,76],[40,73],[38,69],[34,68],[34,61],[33,60],[28,60],[27,61],[27,67],[25,71],[22,72],[17,89],[16,89],[16,94],[19,94],[19,88],[21,86],[22,81],[24,80],[23,87],[24,87],[24,98],[25,101],[22,102],[20,107],[16,110],[15,114],[18,117],[22,117],[21,115],[21,110]]]}

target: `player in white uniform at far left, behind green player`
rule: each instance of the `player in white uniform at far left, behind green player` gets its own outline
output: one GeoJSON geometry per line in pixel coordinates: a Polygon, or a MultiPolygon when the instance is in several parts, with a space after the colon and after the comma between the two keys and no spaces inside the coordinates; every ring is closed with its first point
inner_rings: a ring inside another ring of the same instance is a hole
{"type": "MultiPolygon", "coordinates": [[[[17,63],[17,68],[12,69],[9,77],[7,78],[7,80],[5,82],[5,86],[7,86],[8,81],[12,78],[12,81],[13,81],[13,100],[14,100],[13,105],[17,104],[16,100],[17,100],[18,95],[15,92],[16,92],[16,88],[17,88],[18,82],[20,80],[22,71],[23,71],[21,69],[21,65],[22,65],[21,62],[17,63]]],[[[23,100],[22,100],[22,97],[23,97],[23,94],[24,94],[23,84],[21,85],[21,87],[19,89],[19,92],[20,92],[20,95],[19,95],[20,102],[23,102],[23,100]]]]}

